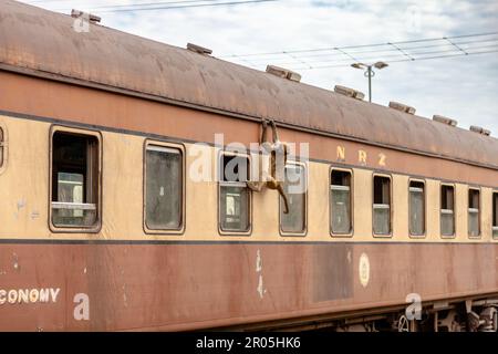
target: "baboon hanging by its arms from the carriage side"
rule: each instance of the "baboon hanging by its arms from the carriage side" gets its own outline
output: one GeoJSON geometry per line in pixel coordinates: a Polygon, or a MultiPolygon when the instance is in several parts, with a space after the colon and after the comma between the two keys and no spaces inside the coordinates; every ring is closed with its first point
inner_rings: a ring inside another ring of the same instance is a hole
{"type": "MultiPolygon", "coordinates": [[[[289,201],[286,192],[283,191],[284,168],[287,164],[287,157],[289,155],[289,146],[286,143],[280,142],[279,133],[277,132],[277,125],[274,124],[274,122],[270,121],[270,124],[273,135],[273,143],[270,143],[267,139],[268,122],[266,119],[263,119],[262,122],[262,132],[260,139],[261,149],[264,149],[264,152],[270,155],[270,174],[264,174],[263,176],[263,169],[261,168],[262,163],[260,163],[259,180],[248,181],[247,186],[255,191],[261,191],[264,186],[269,189],[278,190],[283,199],[283,204],[286,207],[283,214],[289,214],[289,201]],[[283,158],[281,158],[282,156],[283,158]],[[283,162],[283,164],[281,164],[281,162],[283,162]],[[280,169],[278,170],[278,168],[280,169]],[[282,178],[279,178],[280,176],[282,176],[282,178]]],[[[262,158],[260,160],[262,160],[262,158]]]]}

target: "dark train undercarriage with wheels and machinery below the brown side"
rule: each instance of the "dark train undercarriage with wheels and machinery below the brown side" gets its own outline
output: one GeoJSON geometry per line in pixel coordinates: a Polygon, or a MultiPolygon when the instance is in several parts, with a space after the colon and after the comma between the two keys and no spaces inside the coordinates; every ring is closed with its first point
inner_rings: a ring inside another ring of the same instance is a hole
{"type": "Polygon", "coordinates": [[[498,294],[424,303],[418,315],[406,306],[231,326],[227,331],[498,332],[498,294]]]}

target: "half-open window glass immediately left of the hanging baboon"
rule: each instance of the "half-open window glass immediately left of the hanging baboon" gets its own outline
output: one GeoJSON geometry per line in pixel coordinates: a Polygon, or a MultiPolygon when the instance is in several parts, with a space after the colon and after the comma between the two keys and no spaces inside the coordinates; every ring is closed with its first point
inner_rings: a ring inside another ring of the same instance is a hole
{"type": "Polygon", "coordinates": [[[250,231],[249,158],[224,154],[220,160],[219,227],[221,232],[250,231]]]}

